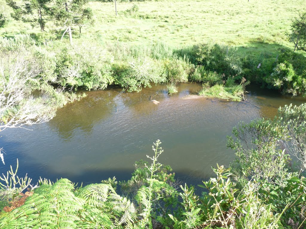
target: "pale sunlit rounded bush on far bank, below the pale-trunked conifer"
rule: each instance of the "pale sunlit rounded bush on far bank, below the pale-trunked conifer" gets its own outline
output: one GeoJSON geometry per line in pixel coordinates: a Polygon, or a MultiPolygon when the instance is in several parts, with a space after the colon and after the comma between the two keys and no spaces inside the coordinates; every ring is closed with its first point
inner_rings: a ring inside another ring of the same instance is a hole
{"type": "Polygon", "coordinates": [[[67,45],[57,53],[57,82],[70,89],[106,88],[114,81],[109,53],[95,43],[83,45],[85,48],[67,45]]]}

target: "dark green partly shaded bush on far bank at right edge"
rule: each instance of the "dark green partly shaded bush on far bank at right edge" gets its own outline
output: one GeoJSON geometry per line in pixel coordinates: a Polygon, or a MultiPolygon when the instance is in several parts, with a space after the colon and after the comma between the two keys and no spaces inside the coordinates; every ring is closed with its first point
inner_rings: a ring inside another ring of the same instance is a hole
{"type": "Polygon", "coordinates": [[[304,95],[305,61],[305,56],[300,53],[283,48],[279,49],[276,58],[266,53],[248,56],[243,60],[244,77],[284,94],[304,95]]]}

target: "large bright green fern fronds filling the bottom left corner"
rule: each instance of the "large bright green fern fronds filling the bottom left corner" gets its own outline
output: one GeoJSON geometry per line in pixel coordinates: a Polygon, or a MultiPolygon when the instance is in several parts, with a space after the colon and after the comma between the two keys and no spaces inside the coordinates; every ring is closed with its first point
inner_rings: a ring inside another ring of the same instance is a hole
{"type": "Polygon", "coordinates": [[[24,205],[3,213],[3,229],[109,229],[132,228],[134,205],[109,184],[90,184],[75,190],[67,179],[44,184],[24,205]]]}

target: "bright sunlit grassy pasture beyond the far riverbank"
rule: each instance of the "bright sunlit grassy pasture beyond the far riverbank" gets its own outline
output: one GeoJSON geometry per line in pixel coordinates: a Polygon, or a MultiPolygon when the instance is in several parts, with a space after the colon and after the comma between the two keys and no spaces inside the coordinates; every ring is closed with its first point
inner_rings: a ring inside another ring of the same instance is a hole
{"type": "MultiPolygon", "coordinates": [[[[116,16],[112,2],[88,5],[94,10],[96,23],[83,30],[84,38],[99,32],[105,42],[162,41],[177,48],[213,41],[239,47],[241,52],[245,48],[267,52],[278,45],[292,46],[285,34],[291,20],[306,10],[304,0],[174,0],[119,2],[116,16]],[[127,12],[134,4],[138,12],[127,12]]],[[[38,29],[12,20],[0,34],[35,31],[38,29]]]]}

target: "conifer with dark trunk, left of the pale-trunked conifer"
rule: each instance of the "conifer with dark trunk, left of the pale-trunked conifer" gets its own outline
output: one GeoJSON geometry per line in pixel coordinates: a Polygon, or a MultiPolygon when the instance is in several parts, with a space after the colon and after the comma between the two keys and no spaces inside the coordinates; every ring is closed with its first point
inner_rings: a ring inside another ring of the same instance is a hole
{"type": "Polygon", "coordinates": [[[30,23],[32,27],[39,26],[45,31],[46,21],[52,0],[22,0],[19,5],[13,0],[6,0],[7,5],[13,8],[11,16],[15,20],[30,23]]]}

